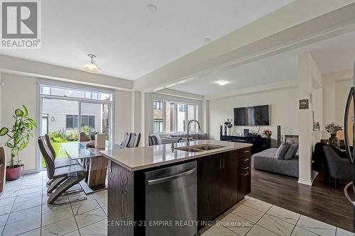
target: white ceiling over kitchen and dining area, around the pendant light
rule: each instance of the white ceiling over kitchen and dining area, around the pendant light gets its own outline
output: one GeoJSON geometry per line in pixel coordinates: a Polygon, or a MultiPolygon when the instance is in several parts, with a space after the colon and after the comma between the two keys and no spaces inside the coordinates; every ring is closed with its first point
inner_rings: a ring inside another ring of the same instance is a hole
{"type": "Polygon", "coordinates": [[[79,69],[94,53],[103,74],[137,79],[292,1],[45,0],[42,49],[0,54],[79,69]]]}

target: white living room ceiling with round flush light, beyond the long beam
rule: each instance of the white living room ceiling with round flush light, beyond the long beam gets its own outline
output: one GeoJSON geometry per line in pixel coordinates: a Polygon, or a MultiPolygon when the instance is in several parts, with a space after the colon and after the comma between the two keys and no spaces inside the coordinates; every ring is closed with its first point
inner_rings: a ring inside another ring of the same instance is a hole
{"type": "Polygon", "coordinates": [[[311,52],[322,74],[352,69],[355,60],[355,32],[297,48],[279,55],[230,69],[220,69],[185,84],[170,87],[192,94],[211,95],[246,87],[297,79],[297,55],[311,52]],[[220,86],[218,80],[229,83],[220,86]]]}

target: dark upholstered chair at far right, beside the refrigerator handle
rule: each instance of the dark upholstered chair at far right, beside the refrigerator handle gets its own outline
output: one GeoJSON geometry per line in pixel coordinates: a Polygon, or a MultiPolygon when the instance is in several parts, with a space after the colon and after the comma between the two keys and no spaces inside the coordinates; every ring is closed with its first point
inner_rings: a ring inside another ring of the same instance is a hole
{"type": "Polygon", "coordinates": [[[329,175],[335,179],[334,188],[337,189],[339,179],[352,179],[353,166],[350,164],[349,159],[339,157],[332,147],[325,145],[323,150],[329,175]]]}

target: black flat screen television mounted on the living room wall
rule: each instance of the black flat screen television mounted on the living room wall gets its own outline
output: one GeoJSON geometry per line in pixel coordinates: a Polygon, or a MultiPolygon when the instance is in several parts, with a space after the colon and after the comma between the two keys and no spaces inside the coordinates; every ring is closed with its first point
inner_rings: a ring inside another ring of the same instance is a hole
{"type": "Polygon", "coordinates": [[[234,125],[270,125],[269,106],[234,108],[234,125]]]}

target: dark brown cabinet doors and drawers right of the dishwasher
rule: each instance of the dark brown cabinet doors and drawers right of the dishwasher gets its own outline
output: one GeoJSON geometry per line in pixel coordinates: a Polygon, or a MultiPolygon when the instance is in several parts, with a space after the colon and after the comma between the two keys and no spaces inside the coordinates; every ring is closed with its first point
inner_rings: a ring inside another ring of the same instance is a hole
{"type": "Polygon", "coordinates": [[[198,220],[216,218],[250,193],[250,152],[247,147],[198,160],[198,220]]]}

